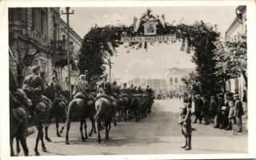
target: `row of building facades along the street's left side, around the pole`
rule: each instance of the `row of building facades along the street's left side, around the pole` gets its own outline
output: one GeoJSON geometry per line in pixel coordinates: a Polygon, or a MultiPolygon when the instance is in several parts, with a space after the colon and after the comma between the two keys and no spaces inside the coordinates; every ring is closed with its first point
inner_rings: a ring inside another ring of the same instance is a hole
{"type": "MultiPolygon", "coordinates": [[[[53,74],[62,79],[58,70],[67,67],[65,63],[59,66],[58,62],[66,60],[66,36],[61,31],[65,24],[58,7],[9,8],[9,47],[14,54],[14,58],[9,58],[10,70],[17,76],[19,87],[35,65],[41,66],[46,83],[50,82],[53,74]]],[[[82,40],[75,37],[78,35],[74,30],[70,34],[70,42],[74,43],[71,49],[76,52],[82,40]]],[[[77,70],[75,65],[72,69],[77,70]]]]}

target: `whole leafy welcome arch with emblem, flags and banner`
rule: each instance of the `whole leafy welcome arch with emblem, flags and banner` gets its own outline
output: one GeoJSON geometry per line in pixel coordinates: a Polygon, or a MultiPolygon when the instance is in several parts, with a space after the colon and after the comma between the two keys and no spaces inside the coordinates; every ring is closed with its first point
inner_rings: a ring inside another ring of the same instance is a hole
{"type": "Polygon", "coordinates": [[[181,22],[174,25],[165,21],[164,14],[154,15],[151,10],[147,10],[141,18],[134,18],[130,26],[92,26],[84,37],[81,54],[78,55],[78,68],[81,72],[88,70],[91,77],[106,70],[104,59],[117,55],[115,48],[118,46],[124,45],[127,52],[130,52],[133,49],[146,50],[155,42],[170,45],[182,42],[181,50],[193,54],[192,62],[197,65],[197,75],[194,76],[199,82],[198,90],[207,90],[210,92],[208,94],[214,94],[219,90],[212,90],[211,86],[220,85],[219,80],[214,77],[216,69],[213,60],[214,42],[218,37],[217,26],[202,21],[192,25],[181,22]]]}

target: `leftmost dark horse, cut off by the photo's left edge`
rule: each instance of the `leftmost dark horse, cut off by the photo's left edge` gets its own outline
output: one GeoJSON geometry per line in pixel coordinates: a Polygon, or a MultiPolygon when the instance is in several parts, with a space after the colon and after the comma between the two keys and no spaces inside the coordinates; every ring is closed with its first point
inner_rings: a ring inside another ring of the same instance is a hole
{"type": "Polygon", "coordinates": [[[14,138],[16,138],[17,155],[20,152],[20,147],[19,147],[19,141],[20,141],[22,144],[22,149],[24,151],[25,156],[28,156],[29,150],[26,145],[26,136],[28,136],[29,134],[33,134],[34,130],[32,130],[31,133],[26,133],[26,131],[28,131],[27,117],[25,115],[25,118],[22,119],[22,121],[18,121],[18,119],[15,118],[14,116],[15,105],[22,105],[23,107],[25,106],[26,107],[25,110],[22,108],[22,106],[18,106],[18,110],[23,111],[23,113],[26,114],[26,109],[32,106],[32,102],[30,98],[27,98],[26,93],[21,89],[15,90],[14,94],[10,93],[10,155],[14,156],[13,142],[14,142],[14,138]],[[18,100],[18,103],[20,102],[20,104],[17,103],[17,100],[18,100]]]}

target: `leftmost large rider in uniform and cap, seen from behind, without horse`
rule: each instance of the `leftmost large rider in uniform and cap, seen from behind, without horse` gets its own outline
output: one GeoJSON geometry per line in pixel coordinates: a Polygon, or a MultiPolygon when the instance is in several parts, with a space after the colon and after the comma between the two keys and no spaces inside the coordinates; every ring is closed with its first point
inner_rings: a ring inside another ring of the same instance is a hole
{"type": "Polygon", "coordinates": [[[26,92],[28,98],[31,99],[33,104],[32,109],[34,110],[38,102],[45,102],[41,94],[45,93],[46,87],[43,78],[39,75],[40,66],[33,66],[32,71],[33,74],[26,76],[22,89],[26,92]]]}

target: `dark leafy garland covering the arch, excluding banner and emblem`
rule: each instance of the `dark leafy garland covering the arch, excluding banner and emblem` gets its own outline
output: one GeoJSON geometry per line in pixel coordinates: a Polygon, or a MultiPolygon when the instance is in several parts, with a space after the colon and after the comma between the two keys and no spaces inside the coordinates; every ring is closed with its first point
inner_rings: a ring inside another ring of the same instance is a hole
{"type": "MultiPolygon", "coordinates": [[[[221,81],[214,74],[216,60],[214,60],[214,42],[218,40],[219,33],[217,25],[206,24],[205,22],[194,22],[192,25],[180,23],[178,25],[168,22],[162,24],[158,18],[151,14],[151,10],[147,10],[146,14],[142,14],[137,32],[134,32],[134,25],[131,26],[92,26],[90,31],[84,36],[81,52],[78,54],[78,68],[82,73],[88,70],[88,76],[103,74],[106,70],[106,58],[109,56],[117,56],[110,50],[107,42],[111,42],[114,48],[125,45],[127,53],[130,50],[145,49],[154,42],[129,42],[123,44],[122,36],[135,36],[143,34],[143,24],[145,19],[154,19],[157,22],[157,34],[176,34],[178,41],[187,38],[188,45],[193,49],[194,55],[192,62],[196,67],[197,79],[200,86],[201,94],[218,94],[221,92],[221,81]]],[[[168,42],[165,42],[168,43],[168,42]]],[[[93,79],[89,79],[92,81],[93,79]]],[[[193,89],[192,89],[193,90],[193,89]]],[[[196,91],[197,92],[197,91],[196,91]]]]}

